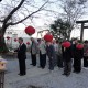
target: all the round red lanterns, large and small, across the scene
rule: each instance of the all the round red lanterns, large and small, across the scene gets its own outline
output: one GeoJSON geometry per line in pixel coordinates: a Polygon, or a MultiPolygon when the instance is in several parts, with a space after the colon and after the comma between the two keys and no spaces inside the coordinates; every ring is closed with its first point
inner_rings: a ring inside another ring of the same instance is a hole
{"type": "MultiPolygon", "coordinates": [[[[31,36],[32,34],[35,33],[35,29],[34,29],[33,26],[28,26],[28,28],[25,28],[25,33],[31,36]]],[[[10,37],[7,36],[7,40],[10,40],[10,37]]],[[[48,34],[44,35],[44,40],[45,40],[46,42],[51,42],[51,41],[53,40],[53,35],[48,33],[48,34]]],[[[18,38],[14,38],[14,42],[16,42],[16,41],[18,41],[18,38]]],[[[30,45],[30,42],[26,42],[26,45],[30,45]]],[[[64,46],[64,47],[66,47],[66,48],[68,48],[70,45],[72,45],[72,44],[70,44],[70,42],[68,42],[68,41],[65,41],[65,42],[62,43],[62,46],[64,46]]],[[[82,45],[82,44],[77,44],[76,47],[77,47],[78,50],[80,50],[80,48],[84,47],[84,45],[82,45]]]]}

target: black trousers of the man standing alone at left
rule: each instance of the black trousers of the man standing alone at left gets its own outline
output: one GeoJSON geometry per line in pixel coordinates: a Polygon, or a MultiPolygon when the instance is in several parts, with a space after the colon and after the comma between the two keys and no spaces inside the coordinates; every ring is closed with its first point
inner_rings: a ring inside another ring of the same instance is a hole
{"type": "Polygon", "coordinates": [[[19,59],[19,67],[20,67],[20,74],[25,75],[26,74],[25,58],[19,59]]]}

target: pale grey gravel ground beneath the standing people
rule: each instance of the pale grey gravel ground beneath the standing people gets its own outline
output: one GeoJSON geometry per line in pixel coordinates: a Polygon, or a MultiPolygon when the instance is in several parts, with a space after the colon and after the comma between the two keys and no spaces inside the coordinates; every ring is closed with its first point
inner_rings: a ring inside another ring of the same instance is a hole
{"type": "MultiPolygon", "coordinates": [[[[63,76],[63,69],[55,67],[50,73],[48,66],[45,69],[30,65],[30,54],[28,54],[28,74],[23,77],[18,75],[19,65],[14,57],[6,57],[8,61],[4,88],[88,88],[88,69],[82,68],[80,74],[72,73],[70,76],[63,76]]],[[[38,57],[37,57],[38,61],[38,57]]]]}

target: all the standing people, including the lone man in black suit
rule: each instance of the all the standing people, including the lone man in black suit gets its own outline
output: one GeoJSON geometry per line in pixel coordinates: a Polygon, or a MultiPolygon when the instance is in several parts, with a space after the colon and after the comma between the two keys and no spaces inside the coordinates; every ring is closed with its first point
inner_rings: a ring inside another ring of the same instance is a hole
{"type": "MultiPolygon", "coordinates": [[[[72,68],[74,73],[81,72],[81,59],[84,58],[84,67],[88,67],[88,41],[84,42],[84,47],[77,48],[79,41],[74,38],[70,42],[69,47],[64,47],[59,41],[53,40],[51,42],[45,42],[44,38],[38,38],[35,41],[31,38],[32,44],[30,46],[31,51],[31,65],[36,66],[36,55],[40,58],[40,68],[44,69],[46,66],[46,61],[48,59],[50,72],[54,70],[55,66],[64,68],[63,75],[69,76],[72,68]]],[[[18,52],[19,65],[20,65],[20,76],[26,74],[25,59],[26,59],[26,45],[23,43],[23,38],[19,38],[20,46],[15,52],[18,52]]]]}

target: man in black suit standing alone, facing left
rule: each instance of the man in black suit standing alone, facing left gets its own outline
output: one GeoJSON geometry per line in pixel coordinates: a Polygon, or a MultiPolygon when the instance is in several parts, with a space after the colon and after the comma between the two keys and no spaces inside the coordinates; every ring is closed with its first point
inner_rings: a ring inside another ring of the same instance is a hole
{"type": "Polygon", "coordinates": [[[18,59],[19,59],[19,66],[20,66],[20,76],[23,76],[26,74],[25,70],[25,59],[26,59],[26,45],[23,43],[23,38],[19,38],[19,48],[15,50],[18,52],[18,59]]]}

